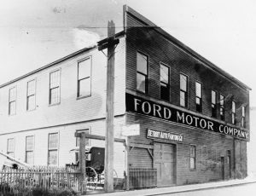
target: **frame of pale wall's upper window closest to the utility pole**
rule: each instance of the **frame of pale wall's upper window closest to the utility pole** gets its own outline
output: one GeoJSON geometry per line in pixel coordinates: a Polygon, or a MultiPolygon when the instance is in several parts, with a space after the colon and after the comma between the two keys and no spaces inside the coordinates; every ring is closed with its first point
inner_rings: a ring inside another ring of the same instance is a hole
{"type": "Polygon", "coordinates": [[[91,78],[92,78],[92,56],[86,56],[83,59],[80,59],[78,61],[78,66],[77,66],[77,74],[78,74],[78,78],[77,78],[77,100],[79,99],[83,99],[86,97],[90,97],[91,96],[91,78]],[[79,78],[79,63],[83,62],[83,61],[90,61],[90,76],[85,77],[85,78],[79,78]],[[80,95],[80,81],[89,79],[90,80],[90,94],[89,95],[80,95]]]}

